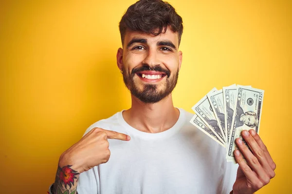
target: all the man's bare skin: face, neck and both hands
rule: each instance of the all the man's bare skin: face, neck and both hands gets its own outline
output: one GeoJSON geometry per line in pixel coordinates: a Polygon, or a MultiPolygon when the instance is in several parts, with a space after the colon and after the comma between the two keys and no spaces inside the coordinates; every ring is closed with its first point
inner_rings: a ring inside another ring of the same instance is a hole
{"type": "MultiPolygon", "coordinates": [[[[119,69],[126,71],[126,75],[127,73],[130,74],[135,67],[148,65],[152,68],[161,65],[170,71],[170,77],[175,76],[175,73],[181,68],[183,56],[182,52],[178,51],[178,40],[178,33],[172,32],[169,28],[165,33],[158,36],[141,32],[126,32],[123,48],[119,48],[117,51],[117,65],[119,69]],[[146,39],[146,42],[133,43],[128,48],[128,43],[133,38],[143,38],[146,39]],[[171,42],[176,49],[168,50],[168,46],[158,46],[157,43],[160,41],[171,42]]],[[[156,84],[158,91],[165,90],[166,77],[157,81],[148,81],[135,75],[133,79],[139,91],[144,89],[145,84],[156,84]]],[[[131,90],[128,85],[127,87],[131,90]]],[[[170,129],[179,118],[179,110],[173,106],[171,94],[157,103],[144,103],[133,95],[131,95],[131,99],[131,108],[123,112],[123,117],[135,129],[149,133],[162,132],[170,129]]],[[[253,152],[240,143],[239,139],[236,140],[237,146],[246,158],[247,163],[244,162],[240,153],[237,155],[238,150],[236,150],[235,158],[239,167],[237,179],[233,186],[234,194],[252,194],[268,184],[275,175],[275,163],[266,146],[253,131],[247,132],[249,135],[244,132],[242,134],[253,152]]],[[[129,141],[130,137],[106,129],[92,129],[60,156],[53,191],[56,193],[57,189],[60,189],[64,193],[69,190],[71,194],[71,192],[76,191],[80,173],[108,162],[110,158],[108,139],[129,141]],[[65,186],[60,180],[61,169],[64,169],[64,167],[70,168],[75,174],[71,187],[68,184],[65,186]]]]}

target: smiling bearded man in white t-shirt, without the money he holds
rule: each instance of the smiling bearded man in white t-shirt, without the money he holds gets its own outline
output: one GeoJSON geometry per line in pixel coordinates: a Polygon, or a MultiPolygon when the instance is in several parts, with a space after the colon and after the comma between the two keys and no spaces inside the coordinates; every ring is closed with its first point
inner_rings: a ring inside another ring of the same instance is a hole
{"type": "Polygon", "coordinates": [[[55,194],[252,194],[274,177],[275,164],[254,131],[237,140],[237,165],[173,107],[182,64],[182,18],[162,0],[140,0],[120,22],[117,65],[131,108],[91,125],[59,159],[55,194]],[[122,140],[122,141],[121,141],[122,140]],[[238,151],[238,150],[237,150],[238,151]],[[237,155],[239,154],[239,155],[237,155]],[[110,160],[109,160],[110,159],[110,160]]]}

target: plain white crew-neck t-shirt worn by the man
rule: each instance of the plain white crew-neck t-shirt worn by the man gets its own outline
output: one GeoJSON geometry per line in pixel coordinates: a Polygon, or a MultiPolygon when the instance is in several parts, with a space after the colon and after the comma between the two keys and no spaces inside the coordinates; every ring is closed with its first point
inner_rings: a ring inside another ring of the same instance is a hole
{"type": "Polygon", "coordinates": [[[225,160],[225,148],[193,126],[193,114],[180,110],[176,124],[160,133],[128,125],[122,112],[91,125],[128,134],[111,140],[110,160],[80,174],[78,194],[229,194],[238,165],[225,160]]]}

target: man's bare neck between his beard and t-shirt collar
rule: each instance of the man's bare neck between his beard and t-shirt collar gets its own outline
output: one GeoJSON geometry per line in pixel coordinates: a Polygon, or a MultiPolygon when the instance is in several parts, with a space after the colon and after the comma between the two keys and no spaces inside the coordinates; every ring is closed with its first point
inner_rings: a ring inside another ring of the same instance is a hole
{"type": "Polygon", "coordinates": [[[174,108],[171,94],[154,104],[146,104],[133,95],[131,98],[132,106],[123,112],[123,117],[135,129],[158,133],[170,129],[179,118],[180,112],[174,108]]]}

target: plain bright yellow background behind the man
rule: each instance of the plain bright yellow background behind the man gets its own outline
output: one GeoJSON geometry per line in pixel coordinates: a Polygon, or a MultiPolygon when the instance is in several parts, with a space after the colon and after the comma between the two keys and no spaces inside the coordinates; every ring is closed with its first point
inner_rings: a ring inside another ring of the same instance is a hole
{"type": "MultiPolygon", "coordinates": [[[[118,22],[134,2],[0,1],[0,193],[45,194],[59,155],[130,107],[115,55],[118,22]]],[[[260,136],[277,168],[257,193],[292,192],[291,1],[169,2],[184,24],[175,106],[192,112],[214,86],[264,89],[260,136]]]]}

